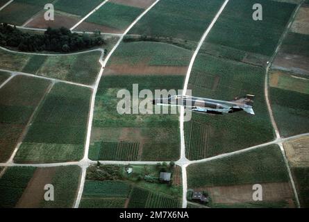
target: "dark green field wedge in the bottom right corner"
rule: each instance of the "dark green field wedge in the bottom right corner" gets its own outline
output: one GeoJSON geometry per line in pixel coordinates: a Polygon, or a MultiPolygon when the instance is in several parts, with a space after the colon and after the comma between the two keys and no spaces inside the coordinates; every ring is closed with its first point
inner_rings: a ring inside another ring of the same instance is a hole
{"type": "Polygon", "coordinates": [[[309,207],[309,168],[292,168],[301,207],[309,207]]]}

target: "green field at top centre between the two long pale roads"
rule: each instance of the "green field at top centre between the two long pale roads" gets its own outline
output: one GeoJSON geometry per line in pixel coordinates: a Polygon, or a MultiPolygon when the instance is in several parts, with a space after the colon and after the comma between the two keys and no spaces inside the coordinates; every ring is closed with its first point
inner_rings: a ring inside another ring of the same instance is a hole
{"type": "Polygon", "coordinates": [[[224,1],[160,1],[138,22],[131,34],[199,41],[224,1]]]}

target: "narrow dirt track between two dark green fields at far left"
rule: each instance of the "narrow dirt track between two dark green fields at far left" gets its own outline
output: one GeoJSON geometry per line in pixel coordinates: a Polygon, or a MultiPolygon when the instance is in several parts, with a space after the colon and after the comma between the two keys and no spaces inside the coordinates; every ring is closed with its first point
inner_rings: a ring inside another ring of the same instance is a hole
{"type": "Polygon", "coordinates": [[[30,128],[31,123],[33,123],[33,119],[35,117],[35,114],[38,112],[38,110],[40,110],[40,108],[42,108],[42,105],[44,104],[44,101],[47,98],[49,92],[51,92],[53,85],[55,85],[55,82],[52,81],[51,83],[49,83],[49,86],[45,90],[42,98],[40,99],[39,103],[37,103],[37,106],[36,106],[35,110],[33,110],[33,113],[31,114],[31,117],[29,118],[28,122],[26,123],[24,130],[22,130],[22,135],[20,135],[19,138],[18,138],[17,146],[15,147],[14,151],[12,152],[10,159],[8,159],[8,163],[14,163],[13,159],[14,159],[17,151],[19,150],[20,145],[22,145],[22,142],[24,141],[24,138],[26,137],[26,135],[28,133],[28,130],[30,128]]]}

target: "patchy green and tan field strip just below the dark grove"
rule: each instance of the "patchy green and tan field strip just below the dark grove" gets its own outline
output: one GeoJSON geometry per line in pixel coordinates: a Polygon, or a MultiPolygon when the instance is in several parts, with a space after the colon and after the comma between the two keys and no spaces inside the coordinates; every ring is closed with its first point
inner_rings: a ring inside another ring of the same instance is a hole
{"type": "Polygon", "coordinates": [[[92,85],[99,74],[101,51],[70,56],[37,56],[0,50],[0,69],[92,85]],[[2,57],[3,56],[3,57],[2,57]]]}

